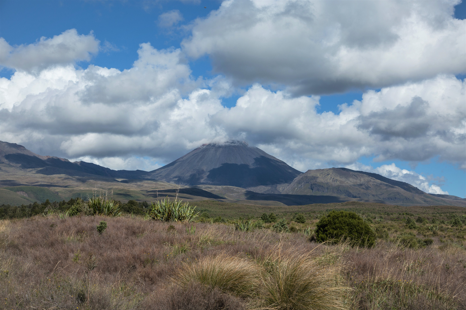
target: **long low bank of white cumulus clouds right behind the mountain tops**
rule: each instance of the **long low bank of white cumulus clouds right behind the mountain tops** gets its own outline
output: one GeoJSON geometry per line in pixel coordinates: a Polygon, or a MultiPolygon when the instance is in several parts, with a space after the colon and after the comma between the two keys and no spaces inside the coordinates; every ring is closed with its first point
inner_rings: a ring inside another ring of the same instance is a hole
{"type": "MultiPolygon", "coordinates": [[[[288,2],[274,3],[276,12],[292,9],[282,7],[288,2]]],[[[269,6],[261,5],[254,5],[252,13],[269,6]]],[[[98,47],[92,35],[75,35],[98,47]]],[[[379,46],[377,40],[358,48],[379,46]]],[[[21,55],[20,63],[38,66],[35,56],[21,55]]],[[[17,69],[11,78],[0,78],[2,140],[41,155],[84,158],[113,169],[151,170],[201,144],[227,139],[247,140],[300,171],[347,166],[362,156],[414,163],[438,158],[466,168],[466,80],[452,74],[367,90],[361,101],[342,102],[336,114],[317,112],[317,95],[296,96],[289,88],[271,90],[259,83],[226,108],[221,98],[234,89],[230,79],[193,77],[182,49],[159,50],[143,43],[133,66],[122,71],[78,68],[73,57],[50,60],[37,72],[17,69]]],[[[444,192],[412,171],[389,168],[376,173],[391,173],[405,182],[410,177],[408,183],[424,191],[444,192]]]]}

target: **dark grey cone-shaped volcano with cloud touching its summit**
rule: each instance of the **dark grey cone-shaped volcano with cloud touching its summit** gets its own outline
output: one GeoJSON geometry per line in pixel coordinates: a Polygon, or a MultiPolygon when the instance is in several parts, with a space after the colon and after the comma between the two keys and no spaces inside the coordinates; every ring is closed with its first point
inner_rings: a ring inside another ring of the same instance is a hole
{"type": "Polygon", "coordinates": [[[151,178],[182,185],[254,187],[291,183],[301,171],[246,142],[202,145],[151,171],[151,178]]]}

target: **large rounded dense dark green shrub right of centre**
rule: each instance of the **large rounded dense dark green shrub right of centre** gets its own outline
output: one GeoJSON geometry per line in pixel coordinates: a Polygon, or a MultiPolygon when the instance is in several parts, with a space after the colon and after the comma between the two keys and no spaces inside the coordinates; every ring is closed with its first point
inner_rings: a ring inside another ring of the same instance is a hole
{"type": "Polygon", "coordinates": [[[342,239],[349,239],[352,246],[372,247],[375,244],[375,233],[369,224],[349,211],[330,211],[317,222],[315,237],[318,242],[330,241],[338,243],[342,239]]]}

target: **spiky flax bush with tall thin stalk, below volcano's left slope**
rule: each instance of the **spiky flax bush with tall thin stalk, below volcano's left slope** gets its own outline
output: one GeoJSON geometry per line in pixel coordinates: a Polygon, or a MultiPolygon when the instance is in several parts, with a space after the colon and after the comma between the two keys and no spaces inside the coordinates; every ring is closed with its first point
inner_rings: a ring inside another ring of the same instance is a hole
{"type": "Polygon", "coordinates": [[[152,203],[146,217],[164,222],[192,222],[199,217],[198,214],[199,212],[196,212],[196,207],[190,206],[187,202],[183,203],[182,200],[178,199],[170,201],[170,199],[164,198],[164,200],[152,203]]]}

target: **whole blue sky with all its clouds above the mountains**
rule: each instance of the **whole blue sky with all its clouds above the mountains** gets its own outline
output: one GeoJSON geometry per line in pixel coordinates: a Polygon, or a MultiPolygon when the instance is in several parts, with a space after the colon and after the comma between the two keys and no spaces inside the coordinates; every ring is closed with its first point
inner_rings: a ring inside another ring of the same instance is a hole
{"type": "Polygon", "coordinates": [[[245,139],[464,198],[465,3],[415,3],[0,1],[1,139],[143,170],[245,139]]]}

